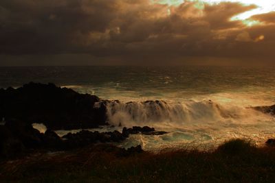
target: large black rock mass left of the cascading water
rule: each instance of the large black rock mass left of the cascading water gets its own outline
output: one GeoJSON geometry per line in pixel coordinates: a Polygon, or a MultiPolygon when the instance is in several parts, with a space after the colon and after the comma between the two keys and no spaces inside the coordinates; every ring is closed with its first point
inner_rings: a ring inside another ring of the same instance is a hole
{"type": "Polygon", "coordinates": [[[52,130],[98,127],[106,123],[106,107],[94,95],[54,84],[25,84],[0,90],[0,119],[44,123],[52,130]]]}

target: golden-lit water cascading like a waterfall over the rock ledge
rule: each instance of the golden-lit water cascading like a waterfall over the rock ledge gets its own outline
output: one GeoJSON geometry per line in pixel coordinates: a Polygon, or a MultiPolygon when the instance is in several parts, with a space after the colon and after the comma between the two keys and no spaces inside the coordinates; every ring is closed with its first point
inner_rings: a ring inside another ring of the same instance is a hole
{"type": "Polygon", "coordinates": [[[149,125],[166,123],[182,125],[187,123],[217,122],[226,119],[239,120],[259,112],[252,108],[234,105],[222,106],[211,100],[166,102],[166,101],[107,101],[107,117],[113,125],[149,125]]]}

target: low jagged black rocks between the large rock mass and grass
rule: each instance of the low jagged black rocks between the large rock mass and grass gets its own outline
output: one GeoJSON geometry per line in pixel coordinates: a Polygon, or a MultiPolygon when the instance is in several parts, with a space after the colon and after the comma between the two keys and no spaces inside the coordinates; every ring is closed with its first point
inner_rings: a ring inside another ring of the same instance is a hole
{"type": "MultiPolygon", "coordinates": [[[[76,134],[66,134],[62,138],[53,130],[44,134],[34,129],[32,125],[19,120],[7,121],[0,125],[0,158],[14,158],[33,150],[65,151],[87,147],[97,143],[120,143],[129,137],[129,134],[159,134],[153,127],[124,127],[122,133],[89,132],[82,130],[76,134]]],[[[121,156],[142,153],[142,147],[131,147],[120,150],[121,156]]]]}

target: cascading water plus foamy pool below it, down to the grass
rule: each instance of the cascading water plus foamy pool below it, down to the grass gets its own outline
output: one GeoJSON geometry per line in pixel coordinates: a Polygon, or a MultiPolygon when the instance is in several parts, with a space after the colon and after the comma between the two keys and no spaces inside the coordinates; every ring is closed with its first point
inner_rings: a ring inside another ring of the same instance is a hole
{"type": "Polygon", "coordinates": [[[126,148],[140,144],[151,151],[187,146],[210,149],[230,138],[249,138],[263,145],[275,130],[274,118],[268,114],[209,100],[112,101],[107,103],[107,116],[113,125],[148,125],[169,132],[162,136],[134,135],[120,144],[126,148]]]}

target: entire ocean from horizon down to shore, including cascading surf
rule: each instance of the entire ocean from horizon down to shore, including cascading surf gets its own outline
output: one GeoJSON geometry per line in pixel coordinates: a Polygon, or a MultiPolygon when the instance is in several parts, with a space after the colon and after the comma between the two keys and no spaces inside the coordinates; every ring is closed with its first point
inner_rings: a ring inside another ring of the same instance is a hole
{"type": "MultiPolygon", "coordinates": [[[[72,88],[109,99],[109,123],[100,131],[148,125],[169,132],[132,135],[120,147],[142,145],[211,149],[230,138],[263,145],[275,137],[275,119],[252,106],[275,103],[275,68],[241,66],[41,66],[1,67],[0,87],[30,81],[72,88]],[[112,100],[119,100],[112,101],[112,100]]],[[[96,106],[95,106],[96,107],[96,106]]],[[[35,121],[34,121],[35,123],[35,121]]],[[[94,130],[94,129],[93,129],[94,130]]],[[[78,132],[78,130],[74,130],[78,132]]],[[[58,131],[63,135],[66,131],[58,131]]]]}

